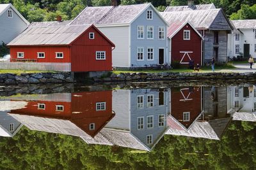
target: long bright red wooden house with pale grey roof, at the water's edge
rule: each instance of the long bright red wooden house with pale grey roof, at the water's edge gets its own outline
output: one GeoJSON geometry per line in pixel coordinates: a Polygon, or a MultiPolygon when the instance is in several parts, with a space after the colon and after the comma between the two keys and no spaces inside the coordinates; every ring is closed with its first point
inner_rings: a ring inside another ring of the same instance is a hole
{"type": "Polygon", "coordinates": [[[115,47],[94,25],[31,25],[8,46],[11,62],[73,72],[111,71],[115,47]]]}

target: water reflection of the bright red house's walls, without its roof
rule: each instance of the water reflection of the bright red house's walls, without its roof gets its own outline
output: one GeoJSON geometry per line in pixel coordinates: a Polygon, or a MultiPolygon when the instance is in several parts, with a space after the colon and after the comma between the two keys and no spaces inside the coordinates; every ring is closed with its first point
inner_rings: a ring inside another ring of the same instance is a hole
{"type": "Polygon", "coordinates": [[[10,113],[69,120],[92,137],[115,116],[111,91],[72,93],[71,100],[66,102],[28,101],[27,108],[10,113]]]}

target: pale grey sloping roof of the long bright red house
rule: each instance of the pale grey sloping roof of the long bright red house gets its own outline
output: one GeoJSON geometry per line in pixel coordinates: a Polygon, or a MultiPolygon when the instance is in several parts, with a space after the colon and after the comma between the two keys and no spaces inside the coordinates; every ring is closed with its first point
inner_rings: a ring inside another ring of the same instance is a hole
{"type": "Polygon", "coordinates": [[[8,45],[69,45],[90,25],[28,27],[8,45]]]}

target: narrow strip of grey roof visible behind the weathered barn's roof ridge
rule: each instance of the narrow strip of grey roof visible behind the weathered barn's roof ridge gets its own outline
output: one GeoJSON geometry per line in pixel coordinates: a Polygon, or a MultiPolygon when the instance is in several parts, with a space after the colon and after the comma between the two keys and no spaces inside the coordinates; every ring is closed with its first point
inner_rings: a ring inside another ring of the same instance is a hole
{"type": "Polygon", "coordinates": [[[164,11],[191,11],[216,9],[214,4],[196,4],[193,6],[167,6],[164,11]]]}

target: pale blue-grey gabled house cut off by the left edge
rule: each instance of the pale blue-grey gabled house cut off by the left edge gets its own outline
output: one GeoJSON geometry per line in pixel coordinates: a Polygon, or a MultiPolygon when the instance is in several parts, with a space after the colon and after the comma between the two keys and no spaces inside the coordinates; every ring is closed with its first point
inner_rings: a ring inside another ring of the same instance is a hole
{"type": "Polygon", "coordinates": [[[12,4],[0,4],[0,43],[9,43],[18,36],[29,22],[12,4]]]}

